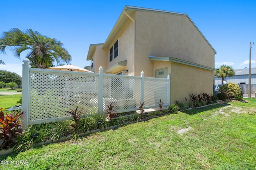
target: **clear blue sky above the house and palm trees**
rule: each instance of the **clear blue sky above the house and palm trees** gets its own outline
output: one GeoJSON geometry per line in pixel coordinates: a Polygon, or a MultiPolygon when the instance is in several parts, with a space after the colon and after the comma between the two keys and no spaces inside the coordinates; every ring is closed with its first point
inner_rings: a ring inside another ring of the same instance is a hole
{"type": "MultiPolygon", "coordinates": [[[[86,61],[90,44],[104,43],[125,5],[186,13],[217,51],[215,68],[249,67],[250,42],[256,43],[255,0],[12,0],[1,2],[0,33],[11,28],[39,31],[56,38],[72,56],[71,64],[86,61]],[[247,63],[247,64],[246,64],[247,63]]],[[[0,69],[22,76],[22,60],[12,52],[0,54],[6,65],[0,69]]],[[[252,46],[252,67],[256,67],[256,45],[252,46]]]]}

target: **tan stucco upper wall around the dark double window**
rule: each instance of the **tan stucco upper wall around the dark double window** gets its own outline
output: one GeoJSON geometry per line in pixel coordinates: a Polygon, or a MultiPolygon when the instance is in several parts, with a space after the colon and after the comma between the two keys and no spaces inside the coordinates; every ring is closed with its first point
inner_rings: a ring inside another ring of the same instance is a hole
{"type": "Polygon", "coordinates": [[[124,70],[128,70],[126,75],[134,76],[134,23],[128,20],[121,31],[118,33],[114,41],[112,41],[110,47],[108,47],[108,68],[114,64],[127,60],[127,67],[124,70]],[[118,57],[109,62],[109,50],[118,39],[118,57]]]}

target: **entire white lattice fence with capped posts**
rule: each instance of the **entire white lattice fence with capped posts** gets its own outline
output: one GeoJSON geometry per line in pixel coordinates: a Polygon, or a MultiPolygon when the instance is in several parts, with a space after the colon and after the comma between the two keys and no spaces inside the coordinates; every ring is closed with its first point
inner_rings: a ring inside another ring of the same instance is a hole
{"type": "Polygon", "coordinates": [[[88,114],[103,113],[113,103],[117,113],[158,107],[161,99],[170,105],[168,78],[148,78],[99,73],[30,68],[24,59],[22,72],[22,117],[24,125],[70,119],[77,106],[88,114]]]}

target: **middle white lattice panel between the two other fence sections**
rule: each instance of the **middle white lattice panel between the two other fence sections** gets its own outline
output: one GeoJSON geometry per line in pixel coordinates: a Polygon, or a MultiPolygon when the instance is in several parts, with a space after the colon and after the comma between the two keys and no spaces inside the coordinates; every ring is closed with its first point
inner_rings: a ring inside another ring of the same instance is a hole
{"type": "Polygon", "coordinates": [[[140,103],[140,77],[104,76],[103,77],[103,110],[113,103],[117,112],[136,109],[140,103]]]}

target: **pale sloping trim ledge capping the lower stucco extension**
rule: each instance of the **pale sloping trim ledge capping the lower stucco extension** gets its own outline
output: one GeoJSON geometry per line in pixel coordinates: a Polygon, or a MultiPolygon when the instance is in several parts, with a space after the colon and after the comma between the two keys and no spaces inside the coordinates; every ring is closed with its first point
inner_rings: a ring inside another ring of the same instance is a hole
{"type": "Polygon", "coordinates": [[[203,68],[206,70],[215,71],[215,68],[211,68],[208,66],[192,63],[189,61],[185,61],[185,60],[181,60],[181,59],[177,59],[177,58],[173,58],[173,57],[154,57],[154,56],[150,56],[150,55],[148,57],[149,57],[150,61],[171,61],[174,63],[180,63],[180,64],[185,64],[185,65],[194,66],[194,67],[198,67],[198,68],[203,68]]]}

